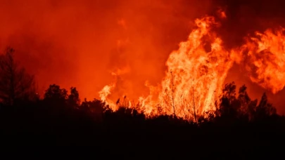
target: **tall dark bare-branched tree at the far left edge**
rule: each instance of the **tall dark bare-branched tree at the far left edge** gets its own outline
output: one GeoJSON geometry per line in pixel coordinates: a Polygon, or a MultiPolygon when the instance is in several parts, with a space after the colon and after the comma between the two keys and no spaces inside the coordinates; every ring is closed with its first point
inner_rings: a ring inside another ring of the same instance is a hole
{"type": "Polygon", "coordinates": [[[31,98],[35,94],[34,76],[27,74],[23,67],[15,62],[13,48],[6,48],[0,55],[0,100],[13,105],[15,100],[31,98]]]}

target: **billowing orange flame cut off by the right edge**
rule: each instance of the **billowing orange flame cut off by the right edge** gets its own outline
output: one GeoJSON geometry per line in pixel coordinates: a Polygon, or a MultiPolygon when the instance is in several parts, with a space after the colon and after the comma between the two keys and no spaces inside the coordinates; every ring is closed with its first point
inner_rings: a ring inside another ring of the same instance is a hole
{"type": "Polygon", "coordinates": [[[285,36],[284,28],[273,31],[255,32],[248,37],[241,52],[246,53],[246,69],[251,81],[267,88],[272,93],[281,91],[285,86],[285,36]]]}

